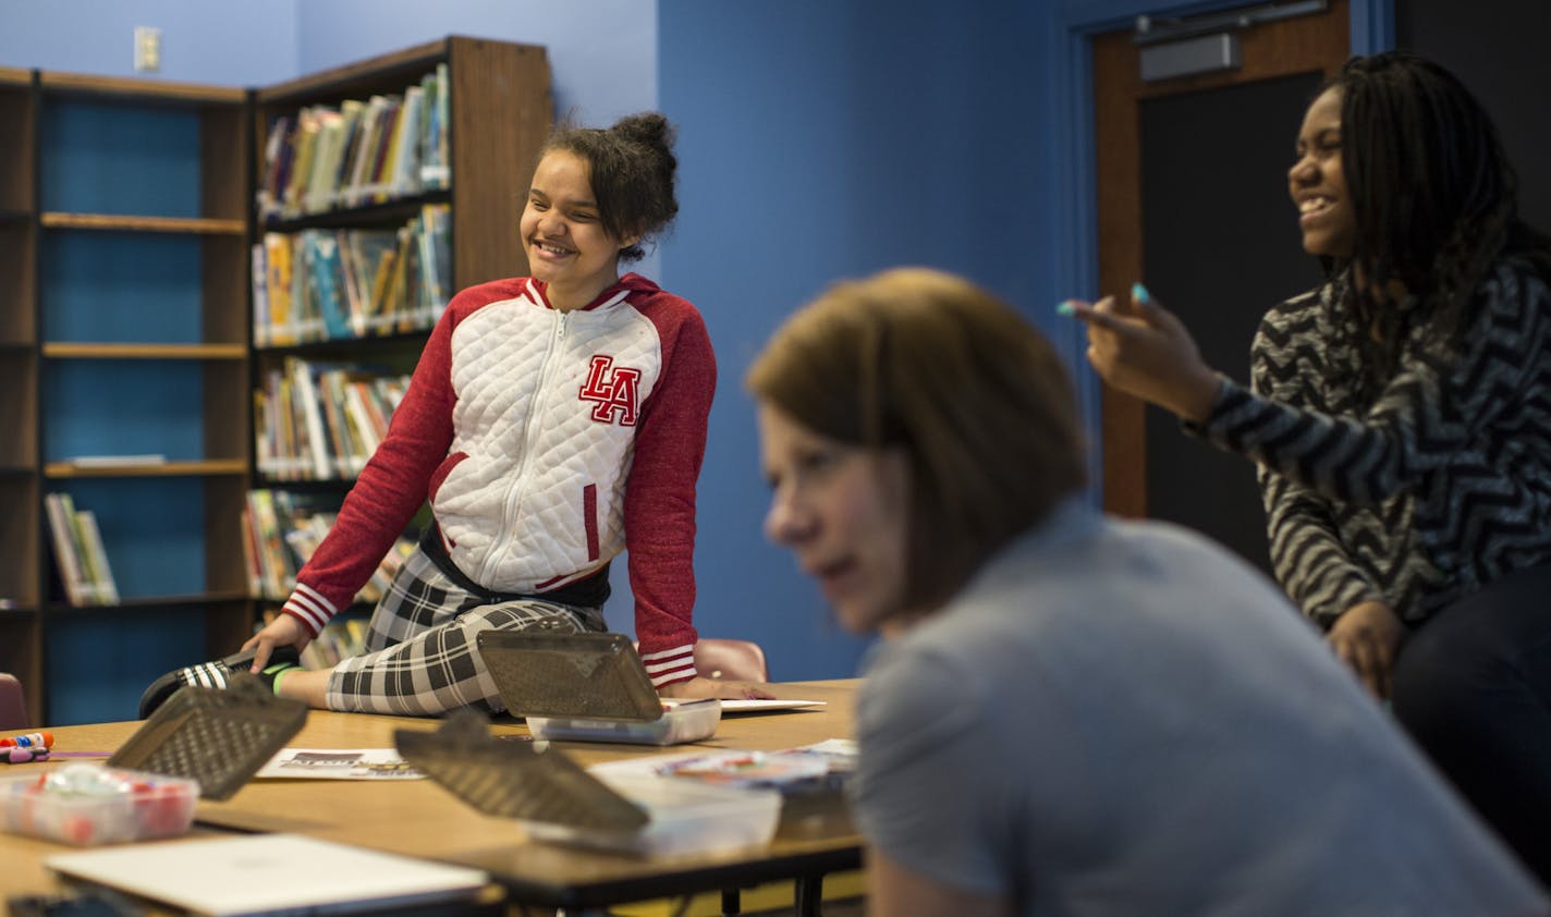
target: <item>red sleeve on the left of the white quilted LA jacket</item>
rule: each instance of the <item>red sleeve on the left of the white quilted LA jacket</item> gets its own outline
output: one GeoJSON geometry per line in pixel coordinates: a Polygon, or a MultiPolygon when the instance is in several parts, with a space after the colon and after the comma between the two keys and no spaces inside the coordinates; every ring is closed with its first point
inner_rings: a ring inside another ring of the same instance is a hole
{"type": "Polygon", "coordinates": [[[431,330],[392,414],[388,434],[351,487],[333,529],[296,574],[285,614],[312,636],[371,579],[409,518],[425,503],[427,483],[453,442],[451,338],[459,295],[431,330]]]}

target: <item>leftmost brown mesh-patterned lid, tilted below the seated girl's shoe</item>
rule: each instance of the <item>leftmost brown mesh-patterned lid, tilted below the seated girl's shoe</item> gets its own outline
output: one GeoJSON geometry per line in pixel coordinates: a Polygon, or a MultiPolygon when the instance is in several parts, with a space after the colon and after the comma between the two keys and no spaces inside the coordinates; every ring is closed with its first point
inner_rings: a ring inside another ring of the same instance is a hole
{"type": "Polygon", "coordinates": [[[107,763],[199,780],[202,799],[230,799],[306,721],[306,703],[234,672],[225,689],[180,689],[107,763]]]}

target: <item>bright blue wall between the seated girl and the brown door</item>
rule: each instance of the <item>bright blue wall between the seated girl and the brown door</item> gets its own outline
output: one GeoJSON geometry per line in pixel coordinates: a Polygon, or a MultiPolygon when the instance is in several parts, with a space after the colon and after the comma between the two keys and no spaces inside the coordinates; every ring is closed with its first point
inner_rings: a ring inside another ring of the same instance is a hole
{"type": "Polygon", "coordinates": [[[1059,299],[1036,5],[659,5],[662,109],[681,211],[662,282],[706,313],[721,366],[701,475],[710,636],[763,644],[777,678],[855,672],[816,590],[760,534],[743,372],[769,330],[836,278],[895,264],[965,273],[1030,307],[1059,299]]]}

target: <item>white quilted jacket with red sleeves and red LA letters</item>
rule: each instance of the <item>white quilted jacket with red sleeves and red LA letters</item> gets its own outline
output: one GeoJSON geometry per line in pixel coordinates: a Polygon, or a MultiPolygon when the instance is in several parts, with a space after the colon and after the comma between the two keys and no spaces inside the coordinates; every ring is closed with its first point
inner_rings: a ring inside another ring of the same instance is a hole
{"type": "Polygon", "coordinates": [[[530,278],[461,292],[285,613],[316,635],[430,500],[453,563],[498,593],[561,588],[628,548],[653,683],[693,678],[695,481],[715,388],[700,312],[637,275],[572,312],[530,278]]]}

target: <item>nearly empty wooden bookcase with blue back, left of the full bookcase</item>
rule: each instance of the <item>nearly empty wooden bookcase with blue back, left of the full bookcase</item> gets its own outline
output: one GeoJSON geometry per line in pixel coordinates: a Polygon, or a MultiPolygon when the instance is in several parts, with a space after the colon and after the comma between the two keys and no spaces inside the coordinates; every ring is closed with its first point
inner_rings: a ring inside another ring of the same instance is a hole
{"type": "Polygon", "coordinates": [[[248,93],[39,71],[28,95],[34,346],[16,362],[34,405],[17,456],[33,484],[29,694],[50,725],[123,720],[152,678],[253,627],[239,529],[248,93]],[[48,493],[92,512],[110,604],[67,600],[48,493]]]}

